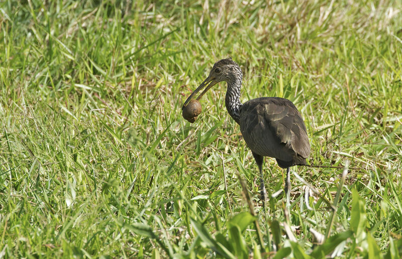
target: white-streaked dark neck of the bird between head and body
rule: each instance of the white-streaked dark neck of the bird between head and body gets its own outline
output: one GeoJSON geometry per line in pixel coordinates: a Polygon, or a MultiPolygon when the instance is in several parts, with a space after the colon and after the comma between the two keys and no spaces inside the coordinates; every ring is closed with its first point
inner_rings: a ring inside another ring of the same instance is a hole
{"type": "Polygon", "coordinates": [[[227,81],[228,89],[226,90],[225,104],[229,115],[240,124],[240,88],[242,86],[242,76],[227,81]]]}

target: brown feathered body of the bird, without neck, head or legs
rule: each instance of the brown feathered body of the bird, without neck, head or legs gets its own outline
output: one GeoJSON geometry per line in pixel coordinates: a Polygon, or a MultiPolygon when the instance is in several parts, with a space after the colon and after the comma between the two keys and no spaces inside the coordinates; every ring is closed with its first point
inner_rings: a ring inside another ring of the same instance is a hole
{"type": "Polygon", "coordinates": [[[240,108],[240,131],[247,146],[275,158],[282,168],[306,165],[310,143],[302,115],[284,98],[261,97],[240,108]]]}

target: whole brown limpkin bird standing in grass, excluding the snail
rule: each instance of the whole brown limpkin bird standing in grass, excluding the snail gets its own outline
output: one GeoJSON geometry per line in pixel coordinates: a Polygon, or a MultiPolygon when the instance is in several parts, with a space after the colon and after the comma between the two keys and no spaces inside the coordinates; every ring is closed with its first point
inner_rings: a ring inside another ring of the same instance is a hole
{"type": "Polygon", "coordinates": [[[240,102],[240,88],[243,73],[240,66],[231,58],[219,60],[214,64],[210,75],[195,89],[184,102],[182,109],[194,95],[206,89],[202,97],[215,84],[226,81],[225,104],[230,116],[240,125],[243,138],[250,148],[260,173],[260,193],[263,205],[266,190],[262,174],[263,157],[275,158],[279,167],[286,168],[285,194],[289,204],[290,167],[306,165],[310,154],[310,143],[302,115],[288,99],[279,97],[260,97],[240,102]]]}

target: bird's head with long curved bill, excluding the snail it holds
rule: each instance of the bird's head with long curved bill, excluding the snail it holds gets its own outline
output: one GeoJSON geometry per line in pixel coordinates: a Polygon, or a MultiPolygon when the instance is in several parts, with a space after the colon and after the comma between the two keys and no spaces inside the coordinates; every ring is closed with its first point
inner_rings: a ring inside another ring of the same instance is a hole
{"type": "Polygon", "coordinates": [[[242,70],[240,66],[232,60],[232,58],[221,59],[216,62],[211,69],[210,75],[207,79],[202,82],[197,89],[195,89],[190,96],[188,96],[187,100],[185,100],[182,109],[188,104],[188,102],[195,96],[197,92],[202,90],[204,87],[205,90],[197,97],[197,100],[203,97],[203,95],[211,89],[212,86],[216,85],[219,82],[226,81],[229,82],[231,80],[235,80],[236,78],[242,78],[242,70]]]}

